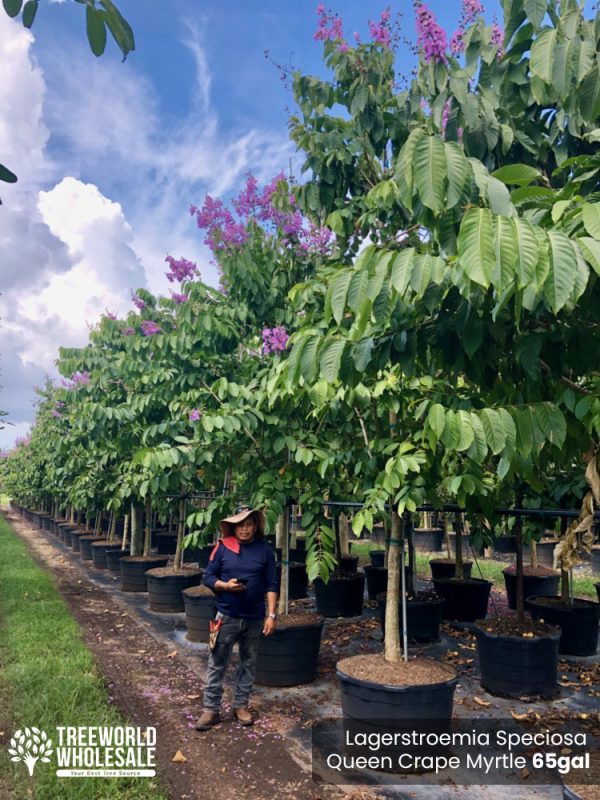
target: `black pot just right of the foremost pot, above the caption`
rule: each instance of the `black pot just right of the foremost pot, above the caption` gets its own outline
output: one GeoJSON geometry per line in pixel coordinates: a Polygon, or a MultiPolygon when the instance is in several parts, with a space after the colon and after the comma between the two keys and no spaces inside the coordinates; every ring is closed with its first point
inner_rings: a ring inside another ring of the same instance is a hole
{"type": "Polygon", "coordinates": [[[508,697],[556,694],[558,640],[547,636],[498,636],[476,628],[481,685],[492,694],[508,697]]]}

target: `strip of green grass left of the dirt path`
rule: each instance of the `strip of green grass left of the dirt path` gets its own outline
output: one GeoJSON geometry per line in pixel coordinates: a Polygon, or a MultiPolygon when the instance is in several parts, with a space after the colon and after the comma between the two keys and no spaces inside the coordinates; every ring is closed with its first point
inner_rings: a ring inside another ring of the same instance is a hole
{"type": "MultiPolygon", "coordinates": [[[[4,724],[36,726],[55,738],[57,725],[127,724],[110,705],[104,682],[77,623],[56,587],[0,516],[0,697],[4,724]],[[8,718],[8,719],[7,719],[8,718]]],[[[30,778],[0,748],[0,775],[15,800],[165,800],[157,779],[57,778],[56,760],[38,761],[30,778]]]]}

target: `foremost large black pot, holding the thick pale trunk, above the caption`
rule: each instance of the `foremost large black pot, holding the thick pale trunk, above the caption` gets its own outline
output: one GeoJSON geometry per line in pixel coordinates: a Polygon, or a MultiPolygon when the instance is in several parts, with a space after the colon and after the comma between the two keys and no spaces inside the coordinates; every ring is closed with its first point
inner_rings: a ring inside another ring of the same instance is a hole
{"type": "Polygon", "coordinates": [[[339,664],[336,674],[341,686],[344,717],[365,723],[369,728],[377,721],[388,727],[404,721],[439,722],[450,720],[452,716],[458,676],[427,685],[387,686],[354,678],[340,669],[339,664]]]}

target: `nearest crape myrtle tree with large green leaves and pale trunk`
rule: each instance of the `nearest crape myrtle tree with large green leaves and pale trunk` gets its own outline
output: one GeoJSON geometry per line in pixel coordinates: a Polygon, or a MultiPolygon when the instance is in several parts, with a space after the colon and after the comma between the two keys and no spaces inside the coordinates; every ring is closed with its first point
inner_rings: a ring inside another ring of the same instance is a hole
{"type": "MultiPolygon", "coordinates": [[[[321,7],[329,80],[294,77],[291,133],[310,170],[299,202],[327,213],[342,257],[312,284],[287,380],[379,393],[373,422],[383,405],[390,433],[372,448],[388,461],[368,505],[414,509],[437,475],[481,510],[488,489],[597,446],[600,25],[575,3],[513,2],[502,31],[469,2],[449,47],[415,9],[408,89],[395,88],[387,12],[376,41],[350,45],[321,7]],[[408,386],[420,397],[399,420],[408,386]]],[[[388,602],[387,630],[395,614],[388,602]]]]}

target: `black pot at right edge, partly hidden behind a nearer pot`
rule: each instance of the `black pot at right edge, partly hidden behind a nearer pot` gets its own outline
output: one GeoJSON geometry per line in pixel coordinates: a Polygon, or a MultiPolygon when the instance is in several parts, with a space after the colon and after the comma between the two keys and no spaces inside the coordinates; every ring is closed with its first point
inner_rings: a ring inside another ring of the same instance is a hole
{"type": "MultiPolygon", "coordinates": [[[[558,597],[553,599],[559,600],[558,597]]],[[[543,619],[548,625],[560,627],[559,653],[571,656],[596,654],[600,603],[575,599],[572,605],[548,604],[543,602],[543,598],[529,597],[527,608],[533,619],[543,619]]]]}

